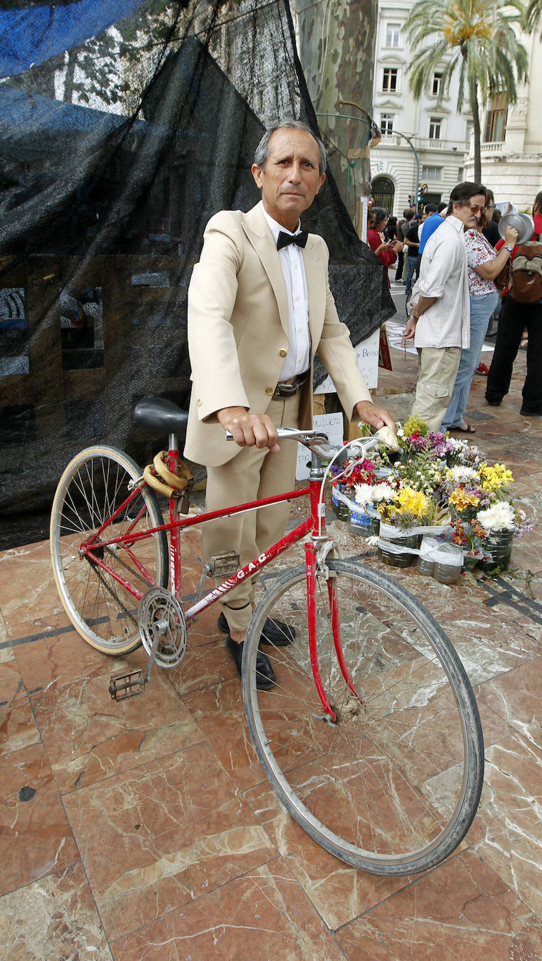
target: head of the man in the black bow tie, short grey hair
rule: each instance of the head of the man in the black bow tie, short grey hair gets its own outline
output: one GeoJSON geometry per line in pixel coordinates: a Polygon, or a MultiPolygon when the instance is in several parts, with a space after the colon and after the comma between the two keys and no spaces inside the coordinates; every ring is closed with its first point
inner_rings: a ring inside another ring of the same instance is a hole
{"type": "Polygon", "coordinates": [[[263,206],[277,223],[293,232],[326,179],[319,173],[320,151],[314,138],[295,127],[276,130],[263,167],[252,165],[263,206]]]}

